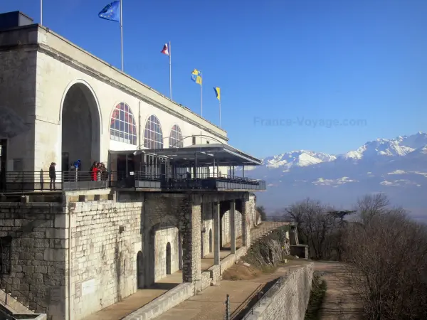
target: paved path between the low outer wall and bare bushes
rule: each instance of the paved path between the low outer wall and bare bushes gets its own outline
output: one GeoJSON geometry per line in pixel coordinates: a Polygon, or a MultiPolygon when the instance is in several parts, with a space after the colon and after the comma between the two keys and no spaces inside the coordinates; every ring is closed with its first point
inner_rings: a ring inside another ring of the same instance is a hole
{"type": "Polygon", "coordinates": [[[320,309],[322,320],[359,320],[363,318],[362,302],[349,287],[344,267],[339,262],[315,262],[315,270],[323,272],[327,291],[320,309]]]}

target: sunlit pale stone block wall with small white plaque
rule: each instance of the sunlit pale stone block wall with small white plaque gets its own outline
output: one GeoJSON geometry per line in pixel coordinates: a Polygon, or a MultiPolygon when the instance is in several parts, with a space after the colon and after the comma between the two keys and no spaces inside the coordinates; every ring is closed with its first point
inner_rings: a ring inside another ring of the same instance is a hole
{"type": "MultiPolygon", "coordinates": [[[[71,303],[83,319],[137,290],[143,201],[68,203],[71,303]]],[[[68,257],[65,260],[68,263],[68,257]]]]}

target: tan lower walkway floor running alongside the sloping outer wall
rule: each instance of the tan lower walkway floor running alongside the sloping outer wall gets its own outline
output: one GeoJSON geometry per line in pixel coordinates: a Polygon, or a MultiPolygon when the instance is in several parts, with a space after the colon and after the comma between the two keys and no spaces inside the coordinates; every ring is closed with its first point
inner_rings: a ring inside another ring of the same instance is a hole
{"type": "Polygon", "coordinates": [[[227,294],[230,295],[231,319],[241,319],[248,304],[263,289],[265,284],[283,274],[305,265],[307,260],[292,260],[271,274],[260,274],[249,280],[221,280],[218,285],[204,289],[194,297],[166,311],[157,320],[218,320],[224,319],[227,294]],[[241,314],[242,313],[242,314],[241,314]]]}

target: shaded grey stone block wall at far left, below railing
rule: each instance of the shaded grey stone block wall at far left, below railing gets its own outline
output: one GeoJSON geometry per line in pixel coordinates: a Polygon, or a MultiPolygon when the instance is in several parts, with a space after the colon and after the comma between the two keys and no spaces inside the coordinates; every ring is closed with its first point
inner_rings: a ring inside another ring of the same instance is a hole
{"type": "Polygon", "coordinates": [[[1,255],[10,268],[3,277],[12,285],[11,296],[53,319],[64,319],[68,297],[67,216],[62,203],[0,202],[1,255]]]}

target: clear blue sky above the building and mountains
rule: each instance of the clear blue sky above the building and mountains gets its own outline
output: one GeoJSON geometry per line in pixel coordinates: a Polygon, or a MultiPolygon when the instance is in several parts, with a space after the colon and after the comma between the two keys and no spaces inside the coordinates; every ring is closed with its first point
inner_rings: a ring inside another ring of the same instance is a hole
{"type": "MultiPolygon", "coordinates": [[[[425,0],[123,1],[125,72],[168,95],[172,41],[174,100],[200,112],[201,70],[204,117],[218,124],[221,87],[222,127],[255,156],[426,131],[425,0]]],[[[108,2],[43,0],[43,24],[120,68],[119,25],[97,17],[108,2]]],[[[40,21],[37,0],[1,1],[14,10],[40,21]]]]}

